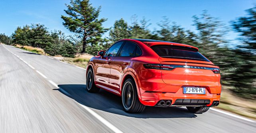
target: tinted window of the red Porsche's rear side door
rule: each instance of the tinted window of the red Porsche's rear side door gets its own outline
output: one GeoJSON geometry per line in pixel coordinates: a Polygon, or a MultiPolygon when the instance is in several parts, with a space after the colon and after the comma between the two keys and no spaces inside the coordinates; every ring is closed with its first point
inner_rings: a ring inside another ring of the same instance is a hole
{"type": "Polygon", "coordinates": [[[120,51],[119,56],[126,56],[126,57],[134,56],[135,50],[136,50],[136,44],[132,42],[125,42],[124,46],[120,51]]]}

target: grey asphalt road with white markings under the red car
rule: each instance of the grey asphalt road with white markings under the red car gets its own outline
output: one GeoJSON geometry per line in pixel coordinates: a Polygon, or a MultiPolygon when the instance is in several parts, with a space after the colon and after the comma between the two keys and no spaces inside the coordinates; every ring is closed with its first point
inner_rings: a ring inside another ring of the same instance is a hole
{"type": "Polygon", "coordinates": [[[209,110],[122,110],[120,97],[85,90],[85,70],[0,45],[0,133],[255,133],[256,122],[209,110]]]}

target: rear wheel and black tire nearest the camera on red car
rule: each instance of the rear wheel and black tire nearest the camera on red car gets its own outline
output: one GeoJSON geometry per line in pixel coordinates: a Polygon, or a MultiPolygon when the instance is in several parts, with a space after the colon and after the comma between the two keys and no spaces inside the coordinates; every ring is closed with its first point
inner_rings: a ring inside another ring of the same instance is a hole
{"type": "Polygon", "coordinates": [[[134,80],[127,79],[122,87],[122,105],[124,111],[128,113],[140,113],[146,108],[140,103],[138,98],[137,88],[134,80]]]}

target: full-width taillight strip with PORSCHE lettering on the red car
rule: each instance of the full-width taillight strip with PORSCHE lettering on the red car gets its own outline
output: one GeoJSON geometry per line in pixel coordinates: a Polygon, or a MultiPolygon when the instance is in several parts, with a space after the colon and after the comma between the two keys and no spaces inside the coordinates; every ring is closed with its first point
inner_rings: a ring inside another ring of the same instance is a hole
{"type": "Polygon", "coordinates": [[[194,69],[205,69],[212,70],[213,73],[219,74],[219,68],[212,67],[198,67],[198,66],[188,66],[188,65],[169,65],[169,64],[144,64],[145,68],[148,69],[159,69],[159,70],[173,70],[174,68],[194,68],[194,69]]]}

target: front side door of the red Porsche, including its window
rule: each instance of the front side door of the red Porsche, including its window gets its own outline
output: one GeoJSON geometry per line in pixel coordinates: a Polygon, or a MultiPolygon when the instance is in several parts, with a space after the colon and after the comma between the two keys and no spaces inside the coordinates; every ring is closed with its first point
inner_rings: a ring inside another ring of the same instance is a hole
{"type": "Polygon", "coordinates": [[[104,54],[103,57],[98,59],[96,64],[96,72],[95,72],[95,81],[97,83],[101,83],[103,85],[109,85],[109,76],[110,76],[110,64],[118,50],[122,46],[123,42],[116,42],[113,44],[104,54]]]}

